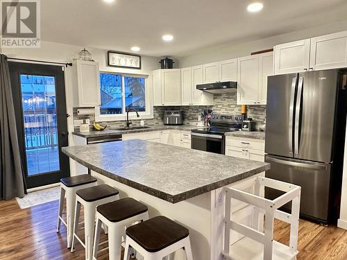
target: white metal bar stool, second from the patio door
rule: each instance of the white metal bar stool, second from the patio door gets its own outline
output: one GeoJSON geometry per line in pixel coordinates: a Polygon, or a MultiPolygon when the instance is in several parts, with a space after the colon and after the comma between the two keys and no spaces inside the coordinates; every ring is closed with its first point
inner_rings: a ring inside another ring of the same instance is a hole
{"type": "Polygon", "coordinates": [[[119,191],[107,184],[76,191],[74,233],[72,235],[71,252],[74,252],[75,239],[77,239],[85,248],[85,259],[92,259],[96,207],[114,200],[119,200],[119,191]],[[85,243],[77,236],[81,205],[84,207],[85,243]]]}

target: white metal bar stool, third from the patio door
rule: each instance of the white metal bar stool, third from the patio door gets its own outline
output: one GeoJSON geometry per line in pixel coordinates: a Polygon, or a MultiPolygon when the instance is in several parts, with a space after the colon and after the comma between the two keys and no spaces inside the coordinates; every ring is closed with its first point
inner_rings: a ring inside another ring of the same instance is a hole
{"type": "Polygon", "coordinates": [[[126,239],[126,227],[149,219],[148,207],[133,198],[123,198],[96,208],[93,260],[99,248],[101,224],[108,227],[108,252],[110,260],[121,259],[121,239],[126,239]]]}

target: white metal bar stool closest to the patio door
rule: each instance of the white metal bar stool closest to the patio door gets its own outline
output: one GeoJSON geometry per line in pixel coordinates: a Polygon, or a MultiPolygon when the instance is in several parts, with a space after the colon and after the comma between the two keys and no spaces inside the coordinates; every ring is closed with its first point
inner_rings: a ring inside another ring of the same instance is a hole
{"type": "Polygon", "coordinates": [[[60,200],[58,211],[57,233],[60,232],[60,224],[63,223],[67,228],[67,248],[71,247],[72,232],[74,224],[74,208],[76,202],[76,191],[96,185],[97,179],[89,174],[83,174],[73,177],[65,177],[60,180],[60,200]],[[67,221],[62,219],[62,209],[65,202],[66,193],[66,209],[67,221]]]}

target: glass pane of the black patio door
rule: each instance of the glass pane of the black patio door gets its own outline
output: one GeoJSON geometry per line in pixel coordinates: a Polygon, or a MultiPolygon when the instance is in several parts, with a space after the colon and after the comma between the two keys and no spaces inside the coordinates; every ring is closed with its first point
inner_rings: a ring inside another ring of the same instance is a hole
{"type": "Polygon", "coordinates": [[[20,75],[28,175],[59,171],[56,80],[20,75]]]}

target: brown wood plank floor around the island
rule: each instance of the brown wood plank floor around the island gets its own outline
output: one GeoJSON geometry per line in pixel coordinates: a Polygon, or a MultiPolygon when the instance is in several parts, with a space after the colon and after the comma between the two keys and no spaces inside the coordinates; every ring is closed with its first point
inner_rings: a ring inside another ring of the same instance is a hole
{"type": "MultiPolygon", "coordinates": [[[[0,201],[0,260],[3,259],[84,259],[84,248],[74,253],[66,248],[65,227],[56,233],[58,201],[30,209],[19,209],[16,200],[0,201]]],[[[276,222],[275,239],[289,242],[286,223],[276,222]]],[[[105,236],[101,241],[105,240],[105,236]]],[[[300,222],[298,259],[347,259],[347,231],[300,222]]],[[[98,259],[108,259],[105,250],[98,259]]]]}

